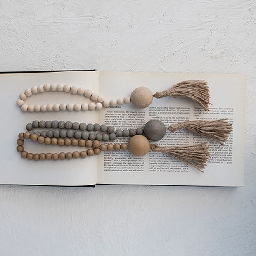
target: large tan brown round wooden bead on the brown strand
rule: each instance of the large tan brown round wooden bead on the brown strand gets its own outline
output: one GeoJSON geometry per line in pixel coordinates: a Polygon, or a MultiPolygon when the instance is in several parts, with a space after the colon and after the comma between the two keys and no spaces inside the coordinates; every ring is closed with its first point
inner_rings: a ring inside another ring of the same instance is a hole
{"type": "Polygon", "coordinates": [[[149,141],[145,136],[135,135],[128,142],[128,150],[133,156],[145,156],[149,149],[149,141]]]}

